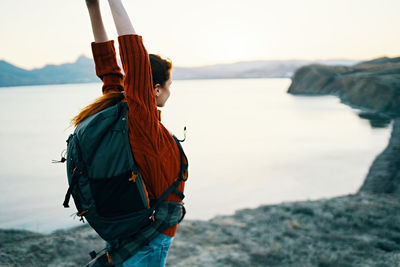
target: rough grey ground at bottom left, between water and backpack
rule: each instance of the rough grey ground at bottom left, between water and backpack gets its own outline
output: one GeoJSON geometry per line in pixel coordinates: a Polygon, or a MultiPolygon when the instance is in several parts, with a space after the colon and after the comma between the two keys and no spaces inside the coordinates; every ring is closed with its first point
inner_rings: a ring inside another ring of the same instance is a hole
{"type": "Polygon", "coordinates": [[[0,240],[0,266],[82,266],[90,251],[104,248],[86,225],[50,235],[0,230],[0,240]]]}

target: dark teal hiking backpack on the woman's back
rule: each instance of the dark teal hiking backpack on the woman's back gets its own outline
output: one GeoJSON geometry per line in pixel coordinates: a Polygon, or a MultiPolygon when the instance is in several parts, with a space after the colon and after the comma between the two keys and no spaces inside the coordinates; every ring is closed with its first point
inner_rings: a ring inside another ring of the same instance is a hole
{"type": "MultiPolygon", "coordinates": [[[[150,206],[146,186],[135,163],[128,136],[126,102],[108,107],[82,121],[67,140],[69,188],[64,207],[72,195],[81,217],[107,242],[133,236],[154,221],[154,214],[176,187],[187,179],[187,158],[180,141],[179,178],[150,206]]],[[[183,219],[185,212],[183,212],[183,219]]]]}

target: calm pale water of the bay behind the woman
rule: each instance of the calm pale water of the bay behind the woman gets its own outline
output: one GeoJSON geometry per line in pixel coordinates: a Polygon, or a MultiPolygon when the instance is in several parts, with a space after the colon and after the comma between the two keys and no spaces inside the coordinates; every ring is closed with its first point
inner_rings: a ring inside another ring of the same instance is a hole
{"type": "MultiPolygon", "coordinates": [[[[288,79],[174,81],[162,121],[190,161],[189,219],[354,193],[391,126],[372,129],[333,96],[286,94],[288,79]]],[[[100,84],[0,88],[0,228],[79,225],[59,159],[69,120],[100,84]]]]}

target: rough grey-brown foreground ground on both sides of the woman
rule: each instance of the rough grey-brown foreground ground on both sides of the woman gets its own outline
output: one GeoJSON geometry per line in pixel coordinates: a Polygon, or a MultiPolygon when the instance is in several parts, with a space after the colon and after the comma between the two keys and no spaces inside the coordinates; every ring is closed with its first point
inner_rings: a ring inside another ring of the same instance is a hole
{"type": "MultiPolygon", "coordinates": [[[[399,266],[400,202],[357,194],[184,221],[167,266],[399,266]]],[[[87,226],[0,231],[0,266],[82,266],[104,244],[87,226]]]]}

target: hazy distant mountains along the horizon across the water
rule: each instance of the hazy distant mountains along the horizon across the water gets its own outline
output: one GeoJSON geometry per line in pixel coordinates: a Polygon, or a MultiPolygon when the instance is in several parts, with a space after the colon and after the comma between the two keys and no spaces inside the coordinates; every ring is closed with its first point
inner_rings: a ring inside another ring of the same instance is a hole
{"type": "MultiPolygon", "coordinates": [[[[173,78],[232,79],[291,77],[304,65],[319,63],[326,65],[353,65],[355,60],[267,60],[245,61],[232,64],[217,64],[204,67],[174,67],[173,78]]],[[[97,82],[93,60],[85,56],[74,63],[47,65],[40,69],[25,70],[0,60],[0,87],[97,82]]]]}

